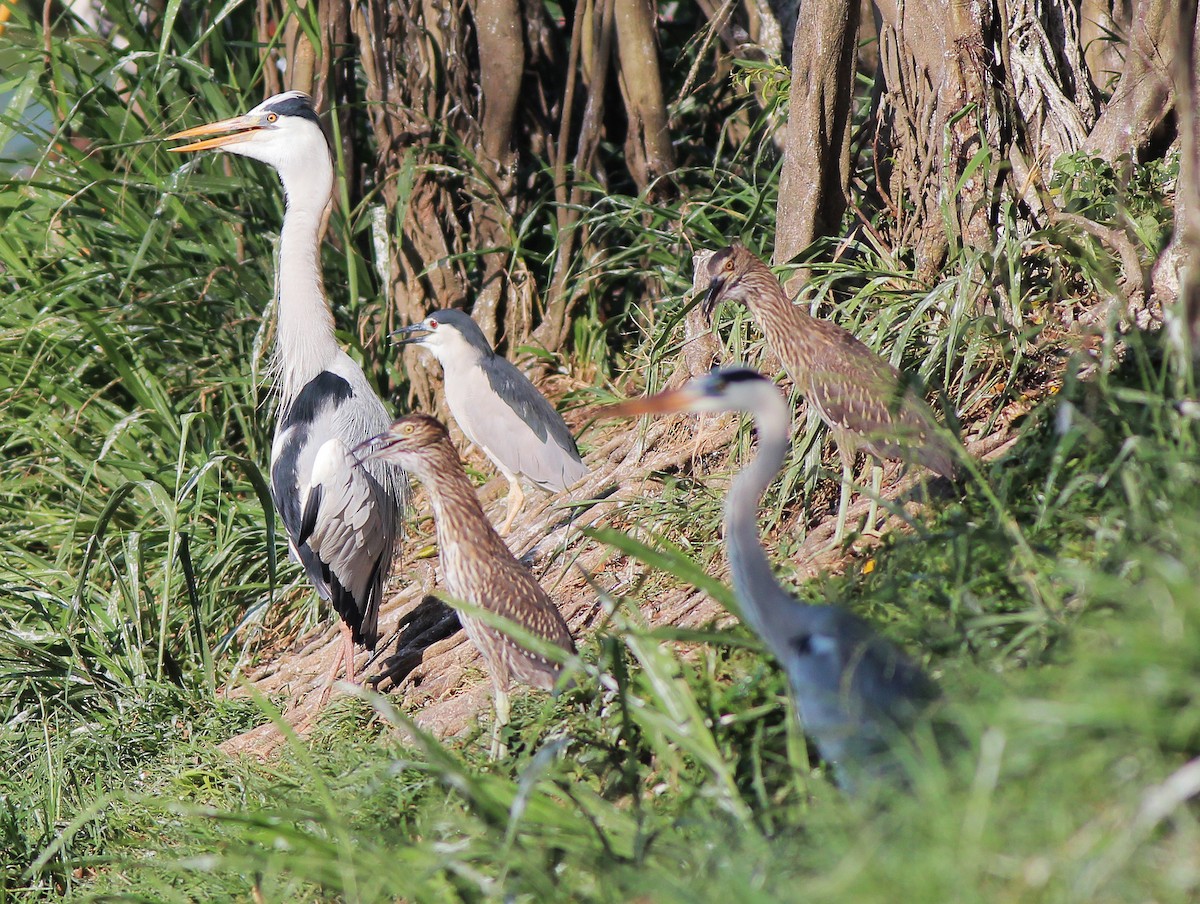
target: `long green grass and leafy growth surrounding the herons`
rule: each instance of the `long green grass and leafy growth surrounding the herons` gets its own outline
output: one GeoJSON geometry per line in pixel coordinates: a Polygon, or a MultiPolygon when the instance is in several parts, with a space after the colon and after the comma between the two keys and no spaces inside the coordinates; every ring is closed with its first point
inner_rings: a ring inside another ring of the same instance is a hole
{"type": "MultiPolygon", "coordinates": [[[[154,35],[131,7],[108,11],[125,50],[66,28],[47,49],[23,7],[0,50],[0,146],[20,157],[0,190],[0,898],[1195,898],[1196,388],[1157,336],[1118,342],[1112,323],[1098,358],[1056,360],[1046,312],[1117,264],[1074,233],[1020,238],[1013,209],[997,249],[961,251],[934,285],[865,240],[808,252],[800,303],[965,421],[986,430],[1061,383],[961,493],[842,575],[800,579],[788,556],[828,492],[811,420],[769,491],[763,523],[798,595],[862,613],[944,689],[964,744],[912,762],[911,794],[846,798],[743,628],[640,613],[680,587],[734,606],[712,575],[749,426],[709,474],[662,475],[628,509],[635,533],[587,540],[636,559],[637,577],[618,595],[594,576],[600,624],[577,684],[514,701],[508,759],[486,761],[484,729],[439,742],[370,694],[268,764],[221,753],[275,714],[217,690],[258,654],[259,629],[325,615],[281,555],[263,475],[282,199],[263,168],[180,164],[154,139],[197,108],[257,100],[264,58],[246,43],[250,7],[168,4],[154,35]]],[[[746,78],[774,84],[762,73],[746,78]]],[[[769,252],[773,121],[726,91],[677,104],[685,166],[670,191],[587,193],[570,354],[602,385],[580,402],[662,385],[694,247],[769,252]]],[[[1054,190],[1148,256],[1175,166],[1118,178],[1072,158],[1054,190]]],[[[472,161],[461,172],[468,182],[472,161]]],[[[558,240],[551,197],[511,237],[539,280],[558,240]]],[[[348,340],[377,311],[372,203],[338,199],[324,262],[348,340]]],[[[731,359],[762,360],[743,313],[718,328],[731,359]]],[[[380,353],[355,353],[388,388],[380,353]]]]}

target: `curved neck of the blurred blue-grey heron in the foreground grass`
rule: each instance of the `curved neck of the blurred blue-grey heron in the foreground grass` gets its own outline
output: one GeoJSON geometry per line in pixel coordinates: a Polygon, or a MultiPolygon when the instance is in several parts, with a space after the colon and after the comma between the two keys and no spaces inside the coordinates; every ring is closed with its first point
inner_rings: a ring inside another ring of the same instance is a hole
{"type": "Polygon", "coordinates": [[[763,406],[755,411],[758,454],[733,479],[725,497],[725,543],[742,615],[774,649],[774,641],[784,639],[772,630],[772,603],[787,594],[775,580],[758,537],[758,503],[787,455],[791,412],[774,387],[769,394],[770,401],[764,395],[763,406]]]}

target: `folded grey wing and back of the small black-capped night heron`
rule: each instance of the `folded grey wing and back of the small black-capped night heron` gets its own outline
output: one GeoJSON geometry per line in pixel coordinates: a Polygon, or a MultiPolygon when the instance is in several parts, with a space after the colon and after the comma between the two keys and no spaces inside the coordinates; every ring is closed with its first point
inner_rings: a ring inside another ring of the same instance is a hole
{"type": "Polygon", "coordinates": [[[563,417],[528,377],[499,355],[484,361],[484,372],[506,411],[481,405],[472,412],[470,420],[494,424],[476,431],[487,437],[480,437],[480,445],[514,473],[547,490],[565,490],[588,473],[563,417]]]}

